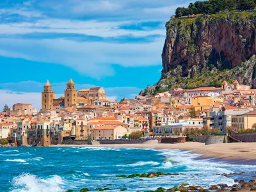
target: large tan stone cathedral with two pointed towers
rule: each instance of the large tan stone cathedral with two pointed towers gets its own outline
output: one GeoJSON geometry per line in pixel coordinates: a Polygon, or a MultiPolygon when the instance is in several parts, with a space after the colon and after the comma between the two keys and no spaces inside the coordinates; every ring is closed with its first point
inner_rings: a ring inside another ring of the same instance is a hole
{"type": "Polygon", "coordinates": [[[102,87],[92,87],[77,92],[76,84],[72,79],[67,83],[64,91],[64,97],[55,99],[55,93],[52,92],[52,86],[47,80],[42,92],[42,111],[51,110],[55,107],[70,108],[79,104],[93,104],[95,100],[106,100],[106,92],[102,87]]]}

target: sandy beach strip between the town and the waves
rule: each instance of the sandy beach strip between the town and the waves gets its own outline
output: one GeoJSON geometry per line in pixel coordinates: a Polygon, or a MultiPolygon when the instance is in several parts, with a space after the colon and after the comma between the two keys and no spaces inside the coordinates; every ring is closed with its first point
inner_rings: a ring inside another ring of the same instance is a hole
{"type": "Polygon", "coordinates": [[[156,140],[142,144],[122,145],[51,145],[51,147],[125,147],[125,148],[157,148],[191,150],[192,153],[203,154],[202,158],[214,157],[218,159],[244,159],[256,162],[256,143],[220,143],[205,145],[204,143],[186,142],[165,144],[156,140]]]}

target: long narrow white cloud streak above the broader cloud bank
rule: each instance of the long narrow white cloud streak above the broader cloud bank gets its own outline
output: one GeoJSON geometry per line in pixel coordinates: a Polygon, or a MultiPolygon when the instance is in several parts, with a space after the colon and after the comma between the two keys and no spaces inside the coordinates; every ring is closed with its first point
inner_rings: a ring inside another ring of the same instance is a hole
{"type": "Polygon", "coordinates": [[[125,24],[137,22],[97,22],[95,20],[64,20],[45,19],[38,22],[20,22],[12,24],[0,24],[0,34],[22,35],[29,33],[64,33],[99,36],[102,38],[118,36],[145,37],[149,35],[165,35],[164,28],[148,30],[120,29],[125,24]]]}

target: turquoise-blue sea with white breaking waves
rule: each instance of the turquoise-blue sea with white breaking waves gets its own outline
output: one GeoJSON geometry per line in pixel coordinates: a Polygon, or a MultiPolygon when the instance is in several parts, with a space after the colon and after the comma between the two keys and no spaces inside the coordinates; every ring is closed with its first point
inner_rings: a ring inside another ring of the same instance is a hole
{"type": "MultiPolygon", "coordinates": [[[[110,147],[0,148],[0,191],[147,191],[173,188],[183,182],[207,187],[236,184],[256,175],[253,164],[233,164],[221,159],[202,159],[184,150],[110,147]],[[119,178],[116,175],[179,173],[154,178],[119,178]],[[243,175],[230,173],[245,172],[243,175]],[[180,174],[182,173],[182,174],[180,174]],[[223,173],[230,174],[228,177],[223,173]],[[98,188],[98,189],[97,189],[98,188]]],[[[255,179],[255,178],[254,178],[255,179]]]]}

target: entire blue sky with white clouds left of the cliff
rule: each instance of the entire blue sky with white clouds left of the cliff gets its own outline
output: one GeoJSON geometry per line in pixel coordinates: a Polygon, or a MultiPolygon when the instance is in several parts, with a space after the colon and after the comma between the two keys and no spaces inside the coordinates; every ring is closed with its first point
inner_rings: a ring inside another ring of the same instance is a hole
{"type": "Polygon", "coordinates": [[[0,0],[0,111],[40,109],[47,79],[56,97],[104,87],[134,98],[161,77],[165,23],[194,0],[0,0]]]}

